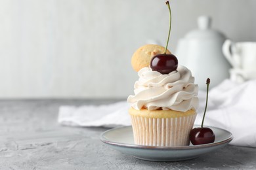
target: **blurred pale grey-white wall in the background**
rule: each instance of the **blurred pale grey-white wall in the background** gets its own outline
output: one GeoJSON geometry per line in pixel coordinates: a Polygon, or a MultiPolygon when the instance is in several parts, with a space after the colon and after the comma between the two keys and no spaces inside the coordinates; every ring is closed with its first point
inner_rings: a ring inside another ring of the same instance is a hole
{"type": "MultiPolygon", "coordinates": [[[[255,0],[172,0],[169,49],[207,14],[234,41],[256,41],[255,0]]],[[[133,93],[133,52],[164,45],[169,14],[156,0],[0,0],[0,98],[133,93]]]]}

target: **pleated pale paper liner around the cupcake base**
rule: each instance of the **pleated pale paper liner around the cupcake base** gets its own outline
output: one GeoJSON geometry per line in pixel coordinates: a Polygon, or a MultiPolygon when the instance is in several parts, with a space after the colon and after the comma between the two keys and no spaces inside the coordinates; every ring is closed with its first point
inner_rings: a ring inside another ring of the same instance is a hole
{"type": "Polygon", "coordinates": [[[146,118],[131,115],[135,144],[186,146],[196,114],[177,118],[146,118]]]}

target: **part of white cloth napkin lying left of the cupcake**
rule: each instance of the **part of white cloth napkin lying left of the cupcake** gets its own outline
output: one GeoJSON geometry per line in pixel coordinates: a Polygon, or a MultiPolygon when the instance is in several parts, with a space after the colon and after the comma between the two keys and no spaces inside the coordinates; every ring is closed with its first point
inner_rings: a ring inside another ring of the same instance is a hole
{"type": "Polygon", "coordinates": [[[129,126],[131,120],[128,109],[127,101],[99,106],[61,106],[58,122],[66,126],[129,126]]]}

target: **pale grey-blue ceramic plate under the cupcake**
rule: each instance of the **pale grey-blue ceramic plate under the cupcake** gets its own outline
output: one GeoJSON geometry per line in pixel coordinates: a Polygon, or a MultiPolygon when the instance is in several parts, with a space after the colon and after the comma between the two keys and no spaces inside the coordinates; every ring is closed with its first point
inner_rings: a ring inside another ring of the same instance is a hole
{"type": "MultiPolygon", "coordinates": [[[[195,126],[199,127],[199,126],[195,126]]],[[[206,127],[206,126],[205,126],[206,127]]],[[[100,140],[111,148],[125,154],[148,161],[181,161],[196,158],[213,150],[217,150],[232,141],[229,131],[217,127],[210,127],[215,133],[215,142],[190,146],[142,146],[134,144],[133,129],[131,126],[117,127],[105,131],[100,140]]]]}

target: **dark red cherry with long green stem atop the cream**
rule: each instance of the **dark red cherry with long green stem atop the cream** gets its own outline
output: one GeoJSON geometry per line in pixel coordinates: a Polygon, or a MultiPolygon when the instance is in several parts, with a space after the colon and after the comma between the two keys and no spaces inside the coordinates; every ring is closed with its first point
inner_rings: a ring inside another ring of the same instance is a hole
{"type": "Polygon", "coordinates": [[[169,74],[175,71],[178,67],[178,59],[173,54],[166,54],[167,47],[169,43],[170,33],[171,33],[171,8],[169,1],[166,2],[169,9],[170,22],[169,22],[169,33],[167,38],[167,44],[165,46],[165,51],[163,54],[158,54],[154,56],[150,61],[150,67],[153,71],[158,71],[161,74],[169,74]]]}

